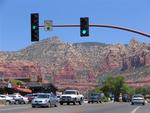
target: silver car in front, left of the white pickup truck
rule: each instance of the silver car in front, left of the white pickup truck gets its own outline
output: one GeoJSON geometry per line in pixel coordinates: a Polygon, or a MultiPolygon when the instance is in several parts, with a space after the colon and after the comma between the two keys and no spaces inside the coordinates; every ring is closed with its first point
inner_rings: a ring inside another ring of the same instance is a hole
{"type": "Polygon", "coordinates": [[[36,98],[32,100],[32,108],[35,107],[57,107],[58,100],[57,97],[52,93],[39,94],[36,98]]]}

